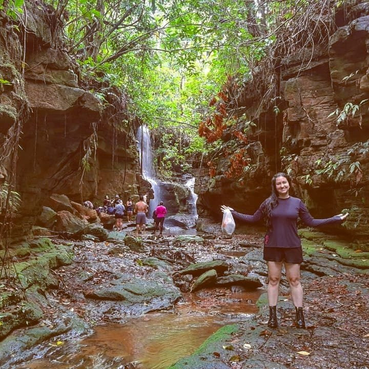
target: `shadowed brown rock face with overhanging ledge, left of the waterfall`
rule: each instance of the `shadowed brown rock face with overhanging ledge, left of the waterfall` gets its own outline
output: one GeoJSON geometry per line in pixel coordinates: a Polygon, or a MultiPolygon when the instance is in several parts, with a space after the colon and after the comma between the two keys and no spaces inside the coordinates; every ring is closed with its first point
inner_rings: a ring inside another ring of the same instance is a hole
{"type": "MultiPolygon", "coordinates": [[[[78,66],[55,46],[61,40],[49,24],[50,11],[42,3],[27,2],[27,32],[19,33],[0,13],[0,78],[9,82],[0,84],[1,144],[19,120],[23,125],[16,168],[16,191],[22,199],[16,217],[22,227],[13,227],[13,237],[28,233],[43,206],[74,214],[69,199],[98,206],[106,194],[118,193],[126,201],[145,184],[137,170],[135,122],[127,127],[121,123],[127,118],[120,113],[127,110],[126,96],[105,89],[109,104],[104,108],[92,90],[82,87],[78,66]],[[26,108],[29,115],[20,119],[26,108]],[[51,204],[51,195],[65,195],[68,204],[62,206],[61,199],[51,204]]],[[[0,185],[9,183],[10,159],[0,162],[0,185]]],[[[85,215],[89,221],[96,219],[85,215]]]]}

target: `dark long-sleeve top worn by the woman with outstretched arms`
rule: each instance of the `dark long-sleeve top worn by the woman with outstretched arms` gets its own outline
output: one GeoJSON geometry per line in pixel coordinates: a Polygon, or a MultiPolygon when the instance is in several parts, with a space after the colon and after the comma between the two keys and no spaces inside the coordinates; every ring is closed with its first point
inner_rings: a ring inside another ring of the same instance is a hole
{"type": "MultiPolygon", "coordinates": [[[[232,214],[236,219],[254,223],[265,216],[266,204],[267,200],[260,205],[254,215],[241,214],[234,210],[232,214]]],[[[298,218],[309,227],[342,222],[341,217],[338,215],[332,218],[314,219],[308,209],[306,209],[305,204],[297,197],[278,198],[278,205],[271,212],[271,228],[265,234],[264,247],[300,247],[301,240],[297,233],[298,218]]]]}

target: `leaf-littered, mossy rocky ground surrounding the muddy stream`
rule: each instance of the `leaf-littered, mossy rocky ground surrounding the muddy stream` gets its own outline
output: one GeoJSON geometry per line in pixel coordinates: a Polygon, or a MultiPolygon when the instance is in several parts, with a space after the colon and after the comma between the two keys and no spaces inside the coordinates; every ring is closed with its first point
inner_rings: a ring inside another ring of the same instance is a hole
{"type": "MultiPolygon", "coordinates": [[[[302,230],[301,237],[307,329],[294,327],[283,279],[278,329],[267,327],[263,293],[253,319],[224,326],[172,368],[368,367],[368,253],[309,230],[302,230]]],[[[230,304],[232,290],[267,282],[261,239],[257,233],[224,236],[215,225],[196,236],[157,239],[110,232],[105,242],[40,238],[28,249],[23,245],[14,268],[27,285],[27,300],[15,280],[0,286],[2,368],[18,367],[36,352],[48,357],[58,342],[88,335],[96,323],[175,310],[189,295],[201,297],[204,306],[230,304]]],[[[111,367],[140,367],[118,364],[111,367]]]]}

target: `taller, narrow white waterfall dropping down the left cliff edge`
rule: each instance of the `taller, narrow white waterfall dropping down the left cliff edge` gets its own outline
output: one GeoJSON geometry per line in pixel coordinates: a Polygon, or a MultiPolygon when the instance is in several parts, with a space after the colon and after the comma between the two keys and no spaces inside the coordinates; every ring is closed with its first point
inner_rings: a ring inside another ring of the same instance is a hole
{"type": "Polygon", "coordinates": [[[136,137],[142,176],[150,182],[154,191],[154,198],[150,199],[149,204],[149,218],[151,218],[152,212],[156,209],[159,203],[160,190],[153,164],[153,152],[151,149],[151,138],[148,127],[138,127],[136,137]]]}

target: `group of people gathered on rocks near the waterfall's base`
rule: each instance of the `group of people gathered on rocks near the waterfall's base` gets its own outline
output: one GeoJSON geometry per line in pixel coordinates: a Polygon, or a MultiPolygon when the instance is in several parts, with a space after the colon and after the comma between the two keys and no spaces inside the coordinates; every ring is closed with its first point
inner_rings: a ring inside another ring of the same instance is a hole
{"type": "MultiPolygon", "coordinates": [[[[91,201],[85,201],[84,206],[89,209],[93,209],[93,204],[91,201]]],[[[123,218],[126,215],[127,221],[130,223],[133,220],[133,213],[136,214],[136,231],[137,234],[145,232],[146,229],[146,215],[149,212],[149,207],[147,204],[147,195],[140,195],[139,201],[135,204],[132,198],[129,197],[126,206],[124,206],[123,201],[120,196],[115,195],[114,199],[110,199],[109,195],[105,196],[103,206],[96,208],[96,211],[100,213],[107,213],[114,215],[115,217],[115,229],[116,231],[121,231],[123,229],[123,218]]],[[[153,219],[155,221],[155,230],[159,230],[159,237],[162,237],[164,218],[167,214],[167,208],[164,206],[163,201],[160,201],[159,206],[153,212],[153,219]]]]}

